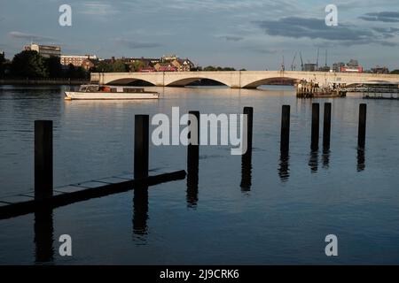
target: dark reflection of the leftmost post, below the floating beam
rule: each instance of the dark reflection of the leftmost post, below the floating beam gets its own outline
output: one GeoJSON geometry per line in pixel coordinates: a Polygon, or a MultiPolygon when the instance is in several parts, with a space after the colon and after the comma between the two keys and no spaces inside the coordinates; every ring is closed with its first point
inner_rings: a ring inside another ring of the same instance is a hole
{"type": "Polygon", "coordinates": [[[35,211],[35,262],[49,263],[54,258],[52,247],[54,228],[52,210],[44,208],[35,211]]]}

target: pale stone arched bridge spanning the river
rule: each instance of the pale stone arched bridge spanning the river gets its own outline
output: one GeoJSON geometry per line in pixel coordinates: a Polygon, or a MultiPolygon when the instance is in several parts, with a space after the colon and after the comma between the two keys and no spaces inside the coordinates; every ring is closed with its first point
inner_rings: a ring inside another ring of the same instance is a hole
{"type": "Polygon", "coordinates": [[[154,72],[154,73],[91,73],[90,81],[108,85],[126,85],[144,80],[157,87],[184,87],[196,80],[215,80],[230,88],[257,88],[276,81],[313,80],[321,85],[330,82],[356,85],[367,81],[399,84],[398,74],[323,73],[296,71],[233,71],[233,72],[154,72]]]}

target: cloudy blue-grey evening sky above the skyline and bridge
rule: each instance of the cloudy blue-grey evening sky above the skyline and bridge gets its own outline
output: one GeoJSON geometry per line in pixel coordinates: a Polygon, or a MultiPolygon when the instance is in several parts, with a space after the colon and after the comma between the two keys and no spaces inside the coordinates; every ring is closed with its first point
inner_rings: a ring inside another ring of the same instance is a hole
{"type": "MultiPolygon", "coordinates": [[[[0,0],[0,50],[12,58],[30,42],[66,55],[161,57],[247,70],[291,69],[301,52],[319,65],[355,58],[365,68],[399,69],[398,0],[0,0]],[[59,25],[59,6],[72,26],[59,25]],[[325,7],[338,26],[325,25],[325,7]]],[[[294,65],[301,68],[299,56],[294,65]]]]}

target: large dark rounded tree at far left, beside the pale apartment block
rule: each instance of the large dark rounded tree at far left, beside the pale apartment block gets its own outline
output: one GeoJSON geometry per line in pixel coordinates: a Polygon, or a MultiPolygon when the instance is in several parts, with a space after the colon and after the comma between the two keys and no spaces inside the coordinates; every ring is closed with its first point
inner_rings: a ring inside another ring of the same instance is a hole
{"type": "Polygon", "coordinates": [[[12,58],[12,75],[27,78],[45,78],[47,70],[43,57],[34,50],[24,50],[12,58]]]}

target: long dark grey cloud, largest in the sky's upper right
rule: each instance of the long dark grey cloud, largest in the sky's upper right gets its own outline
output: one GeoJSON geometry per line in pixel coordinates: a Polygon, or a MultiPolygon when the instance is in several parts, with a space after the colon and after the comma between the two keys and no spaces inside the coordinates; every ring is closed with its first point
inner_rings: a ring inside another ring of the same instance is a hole
{"type": "MultiPolygon", "coordinates": [[[[309,38],[337,42],[342,45],[357,45],[369,43],[381,43],[383,45],[396,45],[395,42],[386,42],[390,38],[387,31],[378,31],[366,27],[355,27],[348,24],[340,24],[338,27],[328,27],[325,19],[287,17],[281,19],[261,20],[254,22],[261,27],[266,34],[272,36],[291,37],[295,39],[309,38]]],[[[391,32],[394,31],[390,30],[391,32]]]]}

